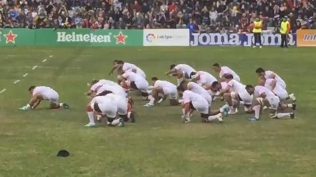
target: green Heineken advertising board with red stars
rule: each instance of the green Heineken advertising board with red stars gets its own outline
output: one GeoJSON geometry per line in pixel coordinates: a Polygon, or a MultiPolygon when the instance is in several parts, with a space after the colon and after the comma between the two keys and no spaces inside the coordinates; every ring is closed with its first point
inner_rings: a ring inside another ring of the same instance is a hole
{"type": "Polygon", "coordinates": [[[2,29],[0,46],[143,46],[142,30],[2,29]]]}

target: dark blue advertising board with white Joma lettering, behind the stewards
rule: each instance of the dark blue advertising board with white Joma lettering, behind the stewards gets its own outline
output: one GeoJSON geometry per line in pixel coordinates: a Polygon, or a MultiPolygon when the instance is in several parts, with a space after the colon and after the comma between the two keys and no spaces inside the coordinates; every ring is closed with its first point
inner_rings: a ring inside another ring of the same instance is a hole
{"type": "MultiPolygon", "coordinates": [[[[252,46],[253,33],[191,33],[190,46],[252,46]]],[[[281,45],[281,34],[264,33],[261,35],[264,46],[281,45]]],[[[296,34],[289,34],[289,46],[296,46],[296,34]]]]}

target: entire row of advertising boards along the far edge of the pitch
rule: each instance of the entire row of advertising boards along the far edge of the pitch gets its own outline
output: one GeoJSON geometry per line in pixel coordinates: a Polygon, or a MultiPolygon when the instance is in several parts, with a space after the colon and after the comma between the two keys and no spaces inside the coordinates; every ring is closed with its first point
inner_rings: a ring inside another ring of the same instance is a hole
{"type": "MultiPolygon", "coordinates": [[[[278,46],[278,33],[261,35],[264,46],[278,46]]],[[[252,33],[190,33],[189,29],[92,30],[25,29],[0,30],[0,46],[251,46],[252,33]]],[[[289,34],[289,46],[316,46],[316,30],[289,34]],[[297,42],[298,41],[298,42],[297,42]]]]}

